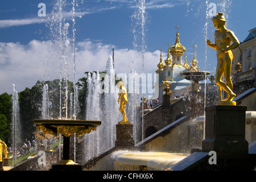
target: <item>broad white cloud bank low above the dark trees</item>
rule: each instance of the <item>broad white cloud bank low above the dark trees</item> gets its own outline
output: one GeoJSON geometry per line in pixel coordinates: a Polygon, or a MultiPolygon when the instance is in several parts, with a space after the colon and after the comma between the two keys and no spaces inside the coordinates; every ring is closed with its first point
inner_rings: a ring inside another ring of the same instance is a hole
{"type": "MultiPolygon", "coordinates": [[[[105,71],[106,61],[112,55],[110,44],[85,40],[76,46],[76,81],[86,71],[105,71]]],[[[144,54],[144,73],[155,73],[159,63],[159,51],[144,54]]],[[[69,80],[73,81],[72,48],[67,53],[69,80]]],[[[141,53],[130,49],[114,49],[115,73],[130,73],[134,68],[142,73],[141,53]]],[[[60,55],[56,45],[50,42],[32,40],[27,45],[0,43],[0,93],[11,93],[13,84],[21,92],[31,88],[36,81],[60,78],[60,55]]]]}

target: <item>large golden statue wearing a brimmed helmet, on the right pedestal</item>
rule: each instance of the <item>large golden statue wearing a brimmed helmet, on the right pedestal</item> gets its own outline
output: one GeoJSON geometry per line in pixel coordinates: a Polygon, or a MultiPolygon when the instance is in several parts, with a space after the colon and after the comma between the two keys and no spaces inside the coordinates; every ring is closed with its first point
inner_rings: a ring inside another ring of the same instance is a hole
{"type": "Polygon", "coordinates": [[[207,45],[217,51],[217,68],[216,68],[216,84],[219,86],[220,102],[218,105],[236,105],[236,102],[232,102],[236,94],[233,93],[233,84],[230,77],[231,66],[233,61],[232,49],[240,45],[238,39],[234,35],[233,31],[226,29],[226,20],[222,13],[218,13],[212,18],[214,27],[217,30],[214,33],[215,43],[212,44],[207,39],[207,45]],[[231,44],[233,42],[233,44],[231,44]],[[221,80],[224,74],[226,83],[221,80]],[[222,89],[227,93],[225,100],[222,100],[222,89]]]}

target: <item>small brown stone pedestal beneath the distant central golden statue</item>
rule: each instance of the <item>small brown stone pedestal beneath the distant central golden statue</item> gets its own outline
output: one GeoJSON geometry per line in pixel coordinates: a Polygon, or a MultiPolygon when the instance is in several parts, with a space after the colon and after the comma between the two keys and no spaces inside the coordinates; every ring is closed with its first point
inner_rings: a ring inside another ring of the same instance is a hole
{"type": "Polygon", "coordinates": [[[115,140],[116,147],[132,148],[134,147],[133,140],[133,125],[129,122],[118,122],[116,127],[117,139],[115,140]]]}

